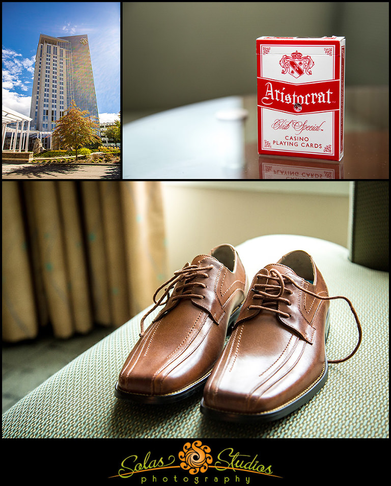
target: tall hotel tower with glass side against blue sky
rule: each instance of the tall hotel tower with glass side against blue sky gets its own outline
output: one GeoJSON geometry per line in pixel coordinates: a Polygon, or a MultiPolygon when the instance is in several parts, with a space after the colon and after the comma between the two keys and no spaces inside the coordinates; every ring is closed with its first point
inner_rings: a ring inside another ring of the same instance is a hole
{"type": "MultiPolygon", "coordinates": [[[[38,43],[31,98],[31,128],[42,133],[44,148],[51,147],[50,133],[74,100],[99,124],[94,78],[87,35],[50,37],[38,43]]],[[[98,129],[98,136],[100,136],[98,129]]]]}

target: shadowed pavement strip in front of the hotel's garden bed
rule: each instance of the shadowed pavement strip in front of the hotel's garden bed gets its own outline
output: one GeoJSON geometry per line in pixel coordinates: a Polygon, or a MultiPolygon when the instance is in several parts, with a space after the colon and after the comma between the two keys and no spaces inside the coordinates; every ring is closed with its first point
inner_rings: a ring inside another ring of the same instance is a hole
{"type": "Polygon", "coordinates": [[[119,179],[120,164],[2,164],[3,179],[119,179]]]}

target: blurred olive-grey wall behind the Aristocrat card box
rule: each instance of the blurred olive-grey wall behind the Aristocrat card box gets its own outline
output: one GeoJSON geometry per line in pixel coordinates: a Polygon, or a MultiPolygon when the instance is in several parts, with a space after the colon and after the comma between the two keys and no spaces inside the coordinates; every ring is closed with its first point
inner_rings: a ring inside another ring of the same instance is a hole
{"type": "Polygon", "coordinates": [[[124,2],[123,109],[256,93],[256,38],[346,37],[346,84],[388,84],[388,2],[124,2]]]}

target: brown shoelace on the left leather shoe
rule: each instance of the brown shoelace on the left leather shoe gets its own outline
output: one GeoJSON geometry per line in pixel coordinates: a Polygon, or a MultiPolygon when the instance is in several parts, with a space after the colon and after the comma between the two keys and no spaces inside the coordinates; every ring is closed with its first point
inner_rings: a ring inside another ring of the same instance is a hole
{"type": "Polygon", "coordinates": [[[192,289],[194,286],[206,288],[206,285],[204,283],[198,282],[197,280],[195,280],[195,278],[197,277],[208,278],[209,275],[207,274],[207,270],[210,270],[211,268],[213,268],[213,265],[199,267],[198,265],[186,264],[181,270],[176,270],[174,272],[174,276],[171,277],[171,279],[164,282],[164,284],[162,284],[154,293],[153,301],[155,305],[141,319],[140,322],[141,332],[139,333],[139,337],[142,338],[144,336],[144,321],[146,317],[149,316],[149,314],[151,314],[151,312],[153,312],[157,307],[163,306],[168,302],[170,290],[173,289],[175,285],[180,281],[183,281],[184,283],[182,285],[178,285],[177,291],[180,292],[183,289],[185,290],[179,293],[178,295],[172,297],[172,300],[178,300],[183,298],[198,298],[198,299],[205,298],[202,295],[192,293],[192,289]],[[156,300],[158,293],[166,285],[167,287],[164,289],[162,296],[158,300],[156,300]],[[165,297],[167,297],[167,300],[163,301],[165,297]]]}

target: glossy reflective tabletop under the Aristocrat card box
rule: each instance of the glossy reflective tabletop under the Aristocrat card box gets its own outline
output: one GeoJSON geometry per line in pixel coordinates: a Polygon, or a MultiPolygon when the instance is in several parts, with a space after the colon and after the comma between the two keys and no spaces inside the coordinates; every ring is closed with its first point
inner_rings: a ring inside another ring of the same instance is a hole
{"type": "Polygon", "coordinates": [[[340,162],[259,156],[255,95],[146,116],[123,127],[123,178],[387,179],[384,96],[388,100],[387,88],[346,89],[345,155],[340,162]]]}

